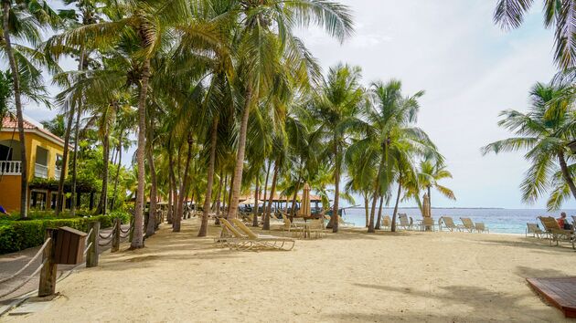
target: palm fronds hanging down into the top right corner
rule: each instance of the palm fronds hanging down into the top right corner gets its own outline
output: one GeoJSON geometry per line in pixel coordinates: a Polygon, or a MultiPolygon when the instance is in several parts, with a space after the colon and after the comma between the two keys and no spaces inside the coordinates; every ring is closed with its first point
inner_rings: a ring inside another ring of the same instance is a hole
{"type": "MultiPolygon", "coordinates": [[[[544,26],[554,26],[554,60],[562,69],[576,64],[576,34],[574,33],[574,0],[544,0],[544,26]]],[[[534,0],[498,0],[494,22],[504,29],[522,25],[534,0]]]]}

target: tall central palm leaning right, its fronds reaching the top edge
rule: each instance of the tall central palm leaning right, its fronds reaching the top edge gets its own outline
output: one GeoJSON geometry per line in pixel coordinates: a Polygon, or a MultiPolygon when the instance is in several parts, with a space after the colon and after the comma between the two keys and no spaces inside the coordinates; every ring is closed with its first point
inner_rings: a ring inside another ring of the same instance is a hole
{"type": "Polygon", "coordinates": [[[286,91],[286,78],[307,81],[315,72],[315,62],[302,41],[293,36],[293,27],[311,22],[323,26],[341,41],[352,31],[347,6],[320,0],[239,1],[240,31],[235,42],[238,76],[243,94],[236,166],[231,189],[229,218],[236,217],[242,179],[246,134],[251,109],[259,99],[274,91],[286,91]]]}

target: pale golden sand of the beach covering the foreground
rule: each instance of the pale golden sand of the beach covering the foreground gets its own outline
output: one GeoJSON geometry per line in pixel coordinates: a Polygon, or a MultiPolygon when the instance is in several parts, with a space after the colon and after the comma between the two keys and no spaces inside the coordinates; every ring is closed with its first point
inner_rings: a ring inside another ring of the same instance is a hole
{"type": "MultiPolygon", "coordinates": [[[[44,310],[2,321],[564,321],[530,276],[574,275],[571,248],[515,235],[347,230],[290,252],[238,252],[168,225],[59,283],[44,310]]],[[[127,245],[124,245],[127,246],[127,245]]]]}

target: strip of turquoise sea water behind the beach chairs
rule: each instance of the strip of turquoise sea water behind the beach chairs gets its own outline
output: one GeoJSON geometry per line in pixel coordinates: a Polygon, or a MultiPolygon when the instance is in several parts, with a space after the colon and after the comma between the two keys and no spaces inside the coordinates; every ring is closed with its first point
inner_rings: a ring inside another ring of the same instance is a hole
{"type": "MultiPolygon", "coordinates": [[[[366,225],[366,216],[364,209],[346,209],[344,210],[344,219],[352,222],[356,226],[363,227],[366,225]]],[[[571,215],[576,215],[576,210],[562,210],[568,214],[571,221],[571,215]]],[[[382,214],[392,215],[392,209],[383,209],[382,214]]],[[[400,209],[399,213],[408,214],[414,221],[421,219],[420,210],[418,209],[400,209]]],[[[527,223],[537,223],[537,217],[540,215],[549,215],[560,217],[559,212],[547,212],[546,210],[511,210],[511,209],[432,209],[432,217],[438,220],[443,215],[452,216],[454,223],[461,224],[460,217],[472,218],[474,222],[484,222],[490,229],[490,233],[500,234],[524,234],[527,223]]],[[[377,213],[378,216],[378,213],[377,213]]],[[[542,227],[541,224],[539,224],[542,227]]]]}

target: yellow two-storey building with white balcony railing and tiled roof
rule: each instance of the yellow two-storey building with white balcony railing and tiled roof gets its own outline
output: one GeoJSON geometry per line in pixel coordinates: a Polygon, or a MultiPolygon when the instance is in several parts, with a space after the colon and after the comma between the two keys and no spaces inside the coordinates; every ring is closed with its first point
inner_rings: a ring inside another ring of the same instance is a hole
{"type": "MultiPolygon", "coordinates": [[[[20,209],[20,181],[23,167],[28,182],[35,178],[59,180],[64,141],[41,125],[24,120],[27,165],[20,159],[20,142],[16,119],[5,117],[0,128],[0,205],[8,211],[20,209]]],[[[28,206],[45,210],[53,207],[58,190],[28,188],[28,206]]]]}

